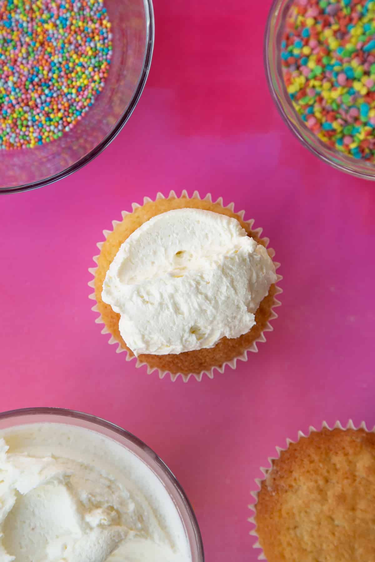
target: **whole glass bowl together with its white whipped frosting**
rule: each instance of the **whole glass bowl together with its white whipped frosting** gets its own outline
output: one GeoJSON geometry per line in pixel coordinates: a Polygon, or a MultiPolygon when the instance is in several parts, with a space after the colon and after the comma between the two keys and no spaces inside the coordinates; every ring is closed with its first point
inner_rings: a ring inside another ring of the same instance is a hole
{"type": "Polygon", "coordinates": [[[203,562],[195,514],[147,445],[71,410],[0,414],[1,562],[203,562]]]}

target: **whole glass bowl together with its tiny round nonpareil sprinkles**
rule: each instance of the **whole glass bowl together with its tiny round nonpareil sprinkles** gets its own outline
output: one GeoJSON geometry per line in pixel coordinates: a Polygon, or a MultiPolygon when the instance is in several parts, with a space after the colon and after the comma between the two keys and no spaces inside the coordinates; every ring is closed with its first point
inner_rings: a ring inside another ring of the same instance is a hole
{"type": "Polygon", "coordinates": [[[137,105],[153,41],[152,0],[0,2],[0,193],[100,154],[137,105]]]}

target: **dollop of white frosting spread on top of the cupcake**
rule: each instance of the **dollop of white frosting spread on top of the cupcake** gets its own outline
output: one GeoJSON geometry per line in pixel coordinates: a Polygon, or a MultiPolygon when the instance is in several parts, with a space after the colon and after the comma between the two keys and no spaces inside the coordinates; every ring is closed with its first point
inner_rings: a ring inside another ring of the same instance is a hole
{"type": "Polygon", "coordinates": [[[267,251],[238,220],[200,209],[152,217],[121,245],[102,300],[135,356],[214,347],[255,324],[276,281],[267,251]]]}

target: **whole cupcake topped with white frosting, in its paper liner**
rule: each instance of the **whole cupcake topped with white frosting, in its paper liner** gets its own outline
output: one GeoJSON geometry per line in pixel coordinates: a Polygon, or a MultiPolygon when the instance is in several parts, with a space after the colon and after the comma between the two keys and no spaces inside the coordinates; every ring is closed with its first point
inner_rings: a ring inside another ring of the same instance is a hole
{"type": "Polygon", "coordinates": [[[93,310],[110,343],[161,377],[200,380],[265,341],[279,305],[268,239],[233,204],[197,192],[145,198],[98,244],[93,310]]]}

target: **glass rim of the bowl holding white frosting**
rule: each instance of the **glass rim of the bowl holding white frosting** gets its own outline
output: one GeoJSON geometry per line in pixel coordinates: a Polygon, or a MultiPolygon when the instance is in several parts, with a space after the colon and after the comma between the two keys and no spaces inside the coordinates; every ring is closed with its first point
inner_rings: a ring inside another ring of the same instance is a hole
{"type": "MultiPolygon", "coordinates": [[[[177,478],[175,477],[173,472],[170,470],[170,468],[168,468],[168,466],[164,463],[164,461],[162,461],[160,459],[159,455],[157,455],[156,452],[153,451],[151,447],[148,447],[148,445],[146,445],[146,443],[144,443],[144,441],[142,441],[142,439],[139,439],[139,437],[135,436],[133,433],[130,433],[126,429],[121,428],[119,425],[116,425],[112,422],[108,422],[107,420],[105,420],[103,418],[100,418],[99,416],[95,416],[93,414],[85,414],[85,413],[80,412],[78,410],[71,410],[69,408],[43,407],[42,406],[42,407],[29,407],[29,408],[15,409],[15,410],[7,410],[7,411],[4,411],[4,412],[0,413],[0,422],[2,422],[3,420],[11,420],[12,418],[20,418],[20,417],[27,417],[27,416],[31,417],[31,416],[34,416],[34,415],[51,416],[51,418],[56,416],[56,418],[60,417],[60,418],[70,418],[70,419],[81,420],[82,422],[87,422],[89,424],[93,424],[93,425],[96,425],[98,427],[105,428],[110,433],[115,433],[116,435],[120,436],[121,438],[125,439],[126,441],[129,441],[130,443],[132,443],[135,446],[135,448],[141,449],[147,455],[147,457],[149,457],[150,460],[152,460],[152,462],[156,464],[157,468],[159,468],[161,470],[162,474],[169,481],[169,483],[171,484],[171,487],[177,493],[177,496],[179,497],[179,499],[182,501],[182,504],[184,506],[184,509],[186,510],[186,514],[187,514],[187,517],[189,519],[189,522],[192,525],[193,535],[194,535],[195,541],[196,541],[197,556],[198,556],[197,562],[204,562],[205,561],[204,546],[203,546],[201,531],[200,531],[200,528],[199,528],[199,525],[198,525],[198,521],[197,521],[195,512],[192,508],[191,503],[188,500],[186,492],[184,491],[183,487],[178,482],[177,478]]],[[[37,422],[37,423],[47,423],[47,422],[37,422]]],[[[52,420],[51,420],[51,423],[53,423],[52,420]]],[[[61,422],[61,423],[63,423],[63,422],[61,422]]],[[[12,427],[12,426],[9,426],[9,427],[12,427]]],[[[0,428],[0,431],[1,431],[1,428],[0,428]]],[[[134,452],[134,451],[132,451],[132,452],[134,452]]],[[[144,462],[143,459],[141,459],[141,460],[144,462]]],[[[147,462],[145,464],[147,464],[147,462]]],[[[152,470],[151,463],[148,464],[148,468],[150,468],[150,470],[152,470]]],[[[153,471],[153,472],[155,473],[155,471],[153,471]]],[[[159,478],[159,475],[156,474],[156,477],[159,478]]],[[[171,493],[168,490],[166,490],[166,492],[169,493],[172,500],[174,501],[173,495],[171,495],[171,493]]],[[[185,524],[184,520],[183,520],[183,524],[185,524]]],[[[188,540],[190,541],[190,538],[188,538],[188,540]]]]}

